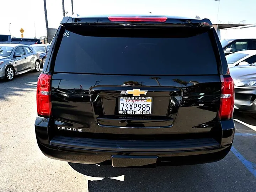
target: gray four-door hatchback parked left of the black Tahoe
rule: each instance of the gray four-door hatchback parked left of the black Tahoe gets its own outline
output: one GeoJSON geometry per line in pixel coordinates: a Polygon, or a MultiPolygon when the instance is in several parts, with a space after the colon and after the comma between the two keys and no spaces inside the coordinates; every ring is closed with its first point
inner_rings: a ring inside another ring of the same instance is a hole
{"type": "Polygon", "coordinates": [[[33,70],[40,71],[39,54],[31,47],[21,44],[0,45],[0,79],[10,81],[15,75],[33,70]]]}

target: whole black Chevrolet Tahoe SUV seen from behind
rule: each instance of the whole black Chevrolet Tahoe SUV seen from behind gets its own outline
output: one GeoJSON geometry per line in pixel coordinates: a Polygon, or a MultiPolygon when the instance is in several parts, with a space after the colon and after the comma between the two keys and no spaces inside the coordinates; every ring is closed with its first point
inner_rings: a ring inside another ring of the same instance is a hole
{"type": "Polygon", "coordinates": [[[231,148],[233,106],[208,19],[64,17],[38,78],[36,138],[69,162],[213,162],[231,148]]]}

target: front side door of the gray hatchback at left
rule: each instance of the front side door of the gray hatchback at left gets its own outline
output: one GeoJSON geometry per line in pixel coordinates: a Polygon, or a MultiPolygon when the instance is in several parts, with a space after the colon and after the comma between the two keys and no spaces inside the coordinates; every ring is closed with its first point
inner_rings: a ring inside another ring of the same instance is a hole
{"type": "Polygon", "coordinates": [[[15,63],[15,69],[17,72],[20,72],[22,70],[25,70],[27,65],[27,56],[25,55],[25,52],[22,48],[22,46],[19,46],[14,51],[14,63],[15,63]],[[21,57],[15,57],[15,54],[21,54],[21,57]]]}

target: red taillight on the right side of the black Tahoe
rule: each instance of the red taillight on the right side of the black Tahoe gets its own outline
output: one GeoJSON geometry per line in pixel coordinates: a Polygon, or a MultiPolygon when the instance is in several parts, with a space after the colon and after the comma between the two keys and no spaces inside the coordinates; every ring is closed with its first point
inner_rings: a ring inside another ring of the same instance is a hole
{"type": "Polygon", "coordinates": [[[219,118],[231,119],[234,111],[234,82],[231,76],[222,79],[219,118]]]}

